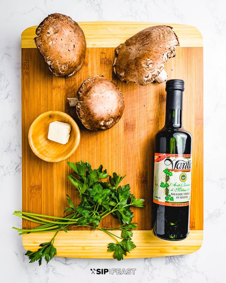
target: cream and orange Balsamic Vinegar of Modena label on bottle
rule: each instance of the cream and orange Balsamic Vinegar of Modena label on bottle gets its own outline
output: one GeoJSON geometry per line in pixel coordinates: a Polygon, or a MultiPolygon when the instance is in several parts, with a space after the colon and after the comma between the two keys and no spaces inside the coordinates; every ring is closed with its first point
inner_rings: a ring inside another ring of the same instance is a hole
{"type": "Polygon", "coordinates": [[[191,154],[155,153],[153,202],[186,206],[191,200],[191,154]]]}

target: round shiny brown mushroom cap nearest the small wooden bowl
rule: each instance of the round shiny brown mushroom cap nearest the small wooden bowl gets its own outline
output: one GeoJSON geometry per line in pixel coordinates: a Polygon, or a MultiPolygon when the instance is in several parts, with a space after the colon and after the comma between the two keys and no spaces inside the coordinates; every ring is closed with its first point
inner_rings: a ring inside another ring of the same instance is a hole
{"type": "Polygon", "coordinates": [[[116,84],[103,76],[83,81],[77,92],[76,112],[89,130],[107,130],[113,127],[124,111],[124,99],[116,84]]]}

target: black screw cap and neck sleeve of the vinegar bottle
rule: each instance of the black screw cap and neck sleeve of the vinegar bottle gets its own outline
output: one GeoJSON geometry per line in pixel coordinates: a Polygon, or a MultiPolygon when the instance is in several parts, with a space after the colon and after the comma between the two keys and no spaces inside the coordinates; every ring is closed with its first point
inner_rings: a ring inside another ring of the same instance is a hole
{"type": "Polygon", "coordinates": [[[182,109],[183,108],[183,80],[167,80],[166,81],[166,109],[182,109]]]}

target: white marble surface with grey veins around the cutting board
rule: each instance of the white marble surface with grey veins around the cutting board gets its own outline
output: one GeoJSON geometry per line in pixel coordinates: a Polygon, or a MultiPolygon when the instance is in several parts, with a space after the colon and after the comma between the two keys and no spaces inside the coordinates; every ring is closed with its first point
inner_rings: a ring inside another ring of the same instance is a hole
{"type": "Polygon", "coordinates": [[[225,4],[220,0],[0,0],[0,208],[1,282],[225,282],[225,4]],[[54,258],[29,264],[21,237],[20,35],[48,14],[76,21],[125,20],[196,26],[204,40],[204,240],[193,254],[126,259],[54,258]],[[91,268],[136,268],[135,275],[91,275],[91,268]]]}

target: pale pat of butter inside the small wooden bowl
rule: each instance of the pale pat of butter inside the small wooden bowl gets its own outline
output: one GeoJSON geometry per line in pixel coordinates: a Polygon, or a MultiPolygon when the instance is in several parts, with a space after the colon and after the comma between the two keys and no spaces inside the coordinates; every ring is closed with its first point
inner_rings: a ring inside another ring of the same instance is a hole
{"type": "Polygon", "coordinates": [[[53,142],[66,144],[69,141],[71,125],[60,121],[49,124],[48,139],[53,142]]]}

